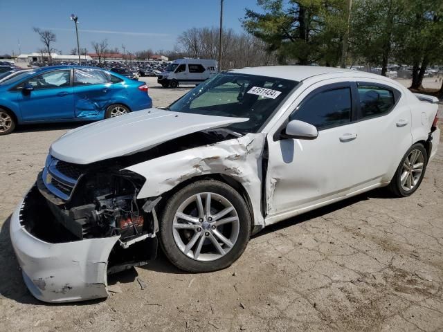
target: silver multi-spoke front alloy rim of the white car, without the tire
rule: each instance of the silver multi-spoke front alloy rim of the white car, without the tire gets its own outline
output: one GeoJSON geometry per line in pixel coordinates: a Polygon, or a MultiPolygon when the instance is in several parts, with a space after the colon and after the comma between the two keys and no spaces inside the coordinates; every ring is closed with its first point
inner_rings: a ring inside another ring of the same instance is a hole
{"type": "Polygon", "coordinates": [[[239,217],[230,201],[204,192],[186,199],[174,215],[172,232],[177,247],[197,261],[224,257],[239,235],[239,217]]]}

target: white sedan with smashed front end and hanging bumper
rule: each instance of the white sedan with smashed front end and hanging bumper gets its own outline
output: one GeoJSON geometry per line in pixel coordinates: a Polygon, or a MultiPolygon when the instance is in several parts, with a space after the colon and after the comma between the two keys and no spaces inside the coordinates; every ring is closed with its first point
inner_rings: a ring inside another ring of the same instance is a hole
{"type": "Polygon", "coordinates": [[[12,215],[24,281],[45,302],[106,297],[107,274],[157,241],[215,271],[267,225],[378,187],[409,196],[437,151],[435,102],[371,73],[269,66],[73,129],[12,215]]]}

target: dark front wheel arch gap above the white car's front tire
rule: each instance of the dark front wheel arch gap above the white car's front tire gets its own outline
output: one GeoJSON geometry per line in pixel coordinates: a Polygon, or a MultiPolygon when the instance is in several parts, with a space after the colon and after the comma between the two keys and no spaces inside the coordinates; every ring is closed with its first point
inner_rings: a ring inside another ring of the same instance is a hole
{"type": "Polygon", "coordinates": [[[248,213],[251,216],[251,232],[253,234],[255,234],[256,232],[258,232],[259,230],[262,229],[262,227],[258,228],[257,230],[255,229],[253,205],[252,205],[251,198],[250,198],[246,188],[242,185],[242,183],[237,181],[235,178],[233,178],[232,176],[228,176],[226,174],[211,173],[211,174],[193,176],[192,178],[187,178],[186,180],[182,181],[181,183],[179,183],[178,185],[173,187],[168,192],[164,192],[163,194],[161,194],[162,199],[161,199],[161,203],[159,204],[159,208],[163,209],[166,202],[168,201],[168,199],[170,199],[170,197],[175,192],[178,192],[183,187],[186,187],[187,185],[190,185],[191,183],[193,183],[195,181],[199,181],[199,180],[220,181],[222,183],[226,183],[226,185],[230,185],[230,187],[233,187],[242,196],[242,198],[244,199],[244,201],[246,203],[246,206],[248,207],[248,213]]]}

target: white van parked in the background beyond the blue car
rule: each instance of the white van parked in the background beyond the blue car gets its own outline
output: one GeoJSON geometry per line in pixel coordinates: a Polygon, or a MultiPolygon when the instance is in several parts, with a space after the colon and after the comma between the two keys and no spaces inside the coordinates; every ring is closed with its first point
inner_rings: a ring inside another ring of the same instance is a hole
{"type": "Polygon", "coordinates": [[[199,84],[218,72],[217,61],[210,59],[177,59],[158,75],[163,88],[177,88],[179,84],[199,84]]]}

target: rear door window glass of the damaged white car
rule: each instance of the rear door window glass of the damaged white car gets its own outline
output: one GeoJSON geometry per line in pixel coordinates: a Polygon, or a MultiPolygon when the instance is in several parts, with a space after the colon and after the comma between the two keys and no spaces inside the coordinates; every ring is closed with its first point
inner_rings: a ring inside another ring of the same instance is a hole
{"type": "Polygon", "coordinates": [[[359,84],[361,118],[388,113],[395,105],[394,93],[377,85],[359,84]]]}

